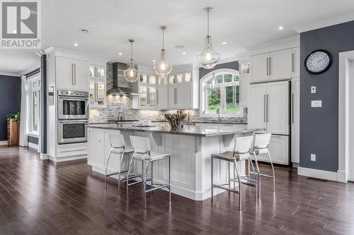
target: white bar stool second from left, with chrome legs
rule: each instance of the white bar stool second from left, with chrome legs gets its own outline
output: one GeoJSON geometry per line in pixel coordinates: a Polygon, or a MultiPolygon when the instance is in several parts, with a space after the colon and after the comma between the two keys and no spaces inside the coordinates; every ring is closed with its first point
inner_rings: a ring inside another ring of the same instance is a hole
{"type": "Polygon", "coordinates": [[[169,188],[169,200],[171,200],[171,158],[170,155],[167,153],[160,153],[160,152],[152,152],[150,147],[149,138],[140,137],[140,136],[133,136],[130,135],[130,141],[132,143],[132,147],[134,149],[132,159],[130,161],[130,167],[127,173],[127,198],[129,197],[129,186],[135,185],[137,183],[142,183],[144,188],[144,209],[147,208],[147,193],[155,191],[156,189],[160,188],[169,188]],[[129,183],[130,179],[135,179],[137,176],[130,177],[130,171],[132,170],[132,162],[133,160],[139,160],[142,162],[142,180],[135,181],[133,183],[129,183]],[[154,169],[154,162],[159,161],[161,159],[169,159],[169,183],[154,183],[153,181],[153,169],[154,169]],[[147,178],[149,164],[152,165],[152,173],[151,178],[147,178]],[[151,181],[151,187],[147,189],[147,181],[151,181]]]}

